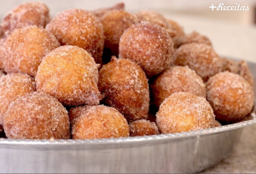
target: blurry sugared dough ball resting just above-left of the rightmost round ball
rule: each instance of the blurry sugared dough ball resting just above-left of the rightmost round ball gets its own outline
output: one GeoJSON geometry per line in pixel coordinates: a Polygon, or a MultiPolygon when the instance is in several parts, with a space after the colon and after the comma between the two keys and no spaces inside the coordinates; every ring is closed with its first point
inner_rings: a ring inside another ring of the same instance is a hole
{"type": "Polygon", "coordinates": [[[175,55],[175,65],[190,67],[204,81],[207,81],[212,75],[221,72],[223,68],[222,59],[207,44],[183,44],[176,49],[175,55]]]}

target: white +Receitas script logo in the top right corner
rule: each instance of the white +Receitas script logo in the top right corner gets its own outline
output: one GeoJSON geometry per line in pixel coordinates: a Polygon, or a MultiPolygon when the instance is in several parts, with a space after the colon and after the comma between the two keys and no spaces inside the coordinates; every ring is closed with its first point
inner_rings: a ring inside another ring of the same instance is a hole
{"type": "Polygon", "coordinates": [[[245,6],[245,5],[240,5],[239,3],[236,5],[224,5],[224,3],[219,3],[218,6],[214,6],[214,4],[212,3],[212,6],[209,7],[210,9],[212,9],[212,11],[214,9],[216,10],[221,10],[221,11],[247,11],[249,10],[249,6],[245,6]]]}

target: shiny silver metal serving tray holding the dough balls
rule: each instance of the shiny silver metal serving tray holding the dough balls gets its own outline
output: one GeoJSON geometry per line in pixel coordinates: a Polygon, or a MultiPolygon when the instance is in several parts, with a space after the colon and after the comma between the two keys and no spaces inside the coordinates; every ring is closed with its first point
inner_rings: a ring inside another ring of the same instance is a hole
{"type": "MultiPolygon", "coordinates": [[[[256,64],[248,63],[256,77],[256,64]]],[[[256,90],[254,89],[256,93],[256,90]]],[[[244,121],[201,131],[98,140],[0,139],[0,172],[166,173],[198,172],[227,157],[244,121]]]]}

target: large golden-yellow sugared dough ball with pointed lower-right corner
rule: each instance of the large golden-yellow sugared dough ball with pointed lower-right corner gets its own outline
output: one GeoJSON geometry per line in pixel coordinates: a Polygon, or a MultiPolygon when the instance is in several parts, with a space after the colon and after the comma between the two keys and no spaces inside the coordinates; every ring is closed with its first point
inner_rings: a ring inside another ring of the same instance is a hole
{"type": "Polygon", "coordinates": [[[44,57],[36,76],[37,90],[55,96],[63,105],[98,105],[98,66],[77,46],[61,46],[44,57]]]}

